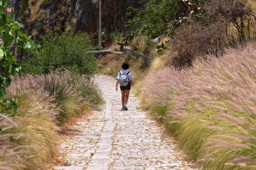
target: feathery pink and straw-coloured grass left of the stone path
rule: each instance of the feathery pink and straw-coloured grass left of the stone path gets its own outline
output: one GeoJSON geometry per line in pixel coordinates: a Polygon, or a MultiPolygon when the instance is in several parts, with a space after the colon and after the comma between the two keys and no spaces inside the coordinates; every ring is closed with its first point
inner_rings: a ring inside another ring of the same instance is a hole
{"type": "Polygon", "coordinates": [[[0,146],[8,144],[8,150],[0,149],[0,166],[6,169],[52,169],[60,126],[102,102],[90,80],[67,70],[13,77],[8,96],[18,111],[10,111],[13,118],[0,114],[0,146]],[[12,154],[1,155],[4,150],[12,154]]]}

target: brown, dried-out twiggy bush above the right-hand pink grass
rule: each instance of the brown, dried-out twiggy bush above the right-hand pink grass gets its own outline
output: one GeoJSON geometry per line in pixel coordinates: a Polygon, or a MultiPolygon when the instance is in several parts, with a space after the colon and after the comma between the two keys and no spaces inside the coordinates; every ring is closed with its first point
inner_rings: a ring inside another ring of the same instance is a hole
{"type": "Polygon", "coordinates": [[[170,38],[166,50],[166,66],[175,68],[188,68],[197,58],[207,54],[221,56],[223,46],[227,42],[226,27],[222,22],[210,24],[208,27],[200,23],[179,27],[175,35],[170,38]]]}

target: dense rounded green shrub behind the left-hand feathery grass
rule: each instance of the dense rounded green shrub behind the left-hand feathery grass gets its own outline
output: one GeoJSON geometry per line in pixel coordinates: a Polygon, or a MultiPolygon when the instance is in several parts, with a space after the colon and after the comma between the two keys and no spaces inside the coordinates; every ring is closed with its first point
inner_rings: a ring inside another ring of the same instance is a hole
{"type": "Polygon", "coordinates": [[[30,52],[22,61],[24,73],[40,75],[51,72],[51,68],[65,68],[72,72],[85,74],[90,78],[96,72],[96,59],[92,39],[86,33],[63,33],[46,35],[42,40],[42,52],[30,52]]]}

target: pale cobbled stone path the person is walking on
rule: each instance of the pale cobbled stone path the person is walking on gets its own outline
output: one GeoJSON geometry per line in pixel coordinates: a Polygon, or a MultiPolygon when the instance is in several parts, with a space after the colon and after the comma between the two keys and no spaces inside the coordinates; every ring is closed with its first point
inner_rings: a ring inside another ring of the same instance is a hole
{"type": "Polygon", "coordinates": [[[115,78],[97,75],[93,81],[106,104],[71,127],[72,135],[60,144],[61,164],[54,169],[196,169],[163,128],[138,109],[132,93],[129,110],[121,111],[115,78]]]}

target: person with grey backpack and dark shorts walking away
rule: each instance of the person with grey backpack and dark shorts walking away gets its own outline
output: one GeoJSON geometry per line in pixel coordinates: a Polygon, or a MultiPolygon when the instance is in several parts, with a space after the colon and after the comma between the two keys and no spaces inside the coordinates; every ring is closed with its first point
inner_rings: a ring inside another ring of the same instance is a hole
{"type": "Polygon", "coordinates": [[[130,90],[131,90],[131,86],[132,86],[132,73],[129,72],[129,70],[127,70],[129,68],[129,64],[127,62],[123,63],[122,66],[123,70],[121,70],[120,72],[118,72],[118,75],[116,77],[116,91],[118,91],[118,84],[120,84],[120,78],[124,77],[123,75],[126,75],[128,80],[128,84],[127,86],[122,86],[122,84],[120,84],[120,89],[121,89],[121,93],[122,93],[122,111],[127,111],[128,107],[127,107],[127,102],[129,99],[129,94],[130,94],[130,90]]]}

